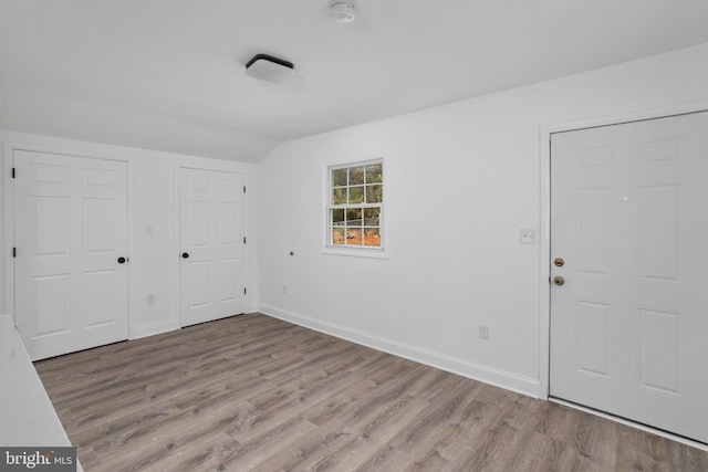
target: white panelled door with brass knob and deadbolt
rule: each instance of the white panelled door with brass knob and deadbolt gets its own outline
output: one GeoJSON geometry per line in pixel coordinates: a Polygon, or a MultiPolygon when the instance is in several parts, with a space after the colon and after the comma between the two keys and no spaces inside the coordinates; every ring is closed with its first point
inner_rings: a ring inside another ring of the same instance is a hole
{"type": "Polygon", "coordinates": [[[708,442],[707,204],[708,113],[552,136],[551,396],[708,442]]]}

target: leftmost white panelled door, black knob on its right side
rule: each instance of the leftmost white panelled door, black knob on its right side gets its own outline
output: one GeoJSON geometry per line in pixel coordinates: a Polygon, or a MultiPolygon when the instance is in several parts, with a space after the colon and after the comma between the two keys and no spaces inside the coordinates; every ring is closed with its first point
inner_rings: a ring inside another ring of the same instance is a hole
{"type": "Polygon", "coordinates": [[[15,324],[30,357],[127,339],[126,164],[13,157],[15,324]]]}

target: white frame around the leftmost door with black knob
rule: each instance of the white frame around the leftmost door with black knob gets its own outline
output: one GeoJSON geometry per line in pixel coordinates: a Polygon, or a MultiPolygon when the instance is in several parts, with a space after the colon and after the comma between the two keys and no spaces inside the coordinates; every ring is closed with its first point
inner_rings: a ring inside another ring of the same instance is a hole
{"type": "MultiPolygon", "coordinates": [[[[90,159],[116,160],[125,162],[127,167],[127,253],[133,253],[133,178],[131,159],[103,155],[100,153],[74,151],[66,148],[27,145],[17,141],[6,141],[2,147],[2,188],[3,188],[3,256],[4,256],[4,306],[0,306],[0,313],[10,315],[13,323],[17,323],[14,313],[14,261],[12,260],[12,248],[14,247],[14,186],[10,181],[12,177],[13,158],[15,150],[27,150],[32,153],[58,154],[70,157],[84,157],[90,159]]],[[[1,261],[2,259],[0,259],[1,261]]],[[[133,286],[133,264],[127,264],[128,276],[128,339],[135,338],[135,307],[134,297],[135,287],[133,286]]]]}

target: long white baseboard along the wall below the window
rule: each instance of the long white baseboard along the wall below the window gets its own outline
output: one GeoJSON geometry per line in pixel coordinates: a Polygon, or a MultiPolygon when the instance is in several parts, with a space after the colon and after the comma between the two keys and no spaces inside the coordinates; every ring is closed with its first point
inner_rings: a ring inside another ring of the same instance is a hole
{"type": "Polygon", "coordinates": [[[303,316],[296,313],[280,310],[271,305],[261,304],[259,305],[258,311],[274,318],[283,319],[285,322],[293,323],[310,329],[336,336],[342,339],[351,340],[353,343],[361,344],[373,349],[393,354],[395,356],[425,364],[427,366],[446,370],[451,374],[457,374],[462,377],[479,380],[485,384],[490,384],[494,387],[516,391],[529,397],[540,398],[539,391],[541,389],[541,386],[539,380],[534,378],[524,377],[504,370],[496,369],[493,367],[470,363],[465,359],[448,356],[446,354],[425,349],[418,346],[394,342],[381,336],[373,335],[371,333],[352,329],[346,326],[321,322],[309,316],[303,316]]]}

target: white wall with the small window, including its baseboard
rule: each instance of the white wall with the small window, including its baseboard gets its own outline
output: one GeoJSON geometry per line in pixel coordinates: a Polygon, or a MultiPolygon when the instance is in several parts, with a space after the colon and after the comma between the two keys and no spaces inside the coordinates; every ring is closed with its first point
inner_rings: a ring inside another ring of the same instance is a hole
{"type": "Polygon", "coordinates": [[[542,397],[548,262],[518,241],[548,209],[541,127],[706,99],[702,44],[285,143],[259,166],[260,310],[542,397]],[[375,157],[388,259],[323,254],[323,167],[375,157]]]}

